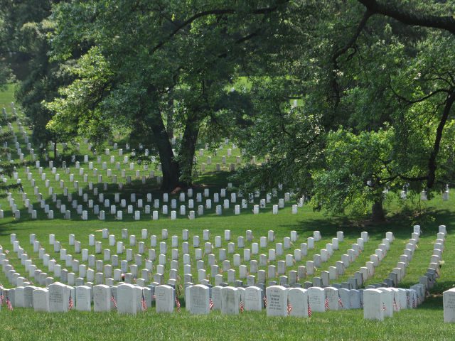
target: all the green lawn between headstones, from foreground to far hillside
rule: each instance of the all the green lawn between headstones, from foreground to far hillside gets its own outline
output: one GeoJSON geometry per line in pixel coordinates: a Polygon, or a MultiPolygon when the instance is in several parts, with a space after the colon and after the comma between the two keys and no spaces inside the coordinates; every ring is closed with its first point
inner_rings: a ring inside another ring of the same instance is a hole
{"type": "MultiPolygon", "coordinates": [[[[0,107],[9,109],[9,102],[13,101],[12,87],[9,87],[8,92],[0,92],[0,107]]],[[[9,109],[9,112],[11,109],[9,109]]],[[[23,139],[19,136],[18,126],[14,124],[14,129],[24,146],[23,139]]],[[[29,134],[30,135],[30,134],[29,134]]],[[[230,145],[232,146],[232,145],[230,145]]],[[[120,147],[119,147],[120,148],[120,147]]],[[[228,148],[225,146],[223,150],[228,148]]],[[[30,155],[26,148],[22,148],[26,153],[26,159],[29,160],[30,155]]],[[[94,161],[99,170],[102,166],[97,164],[96,157],[92,156],[87,150],[87,145],[81,144],[80,153],[77,160],[82,160],[83,155],[90,155],[90,161],[94,161]]],[[[114,153],[114,152],[112,152],[114,153]]],[[[205,158],[210,155],[205,151],[205,158]]],[[[240,151],[233,149],[232,158],[228,159],[228,163],[235,162],[235,156],[240,156],[240,151]]],[[[117,153],[116,161],[119,160],[117,153]]],[[[216,156],[213,155],[213,163],[220,163],[220,152],[216,156]]],[[[14,158],[16,158],[14,154],[14,158]]],[[[202,158],[202,157],[201,157],[202,158]]],[[[102,155],[102,161],[108,163],[108,168],[112,167],[115,174],[121,178],[119,171],[114,171],[114,167],[109,163],[109,156],[102,155]]],[[[202,161],[203,162],[203,161],[202,161]]],[[[242,162],[245,162],[242,160],[242,162]]],[[[42,162],[45,167],[44,173],[51,175],[48,165],[42,162]]],[[[75,171],[72,165],[72,171],[75,171]]],[[[85,166],[84,166],[85,167],[85,166]]],[[[124,167],[122,163],[122,167],[124,167]]],[[[205,173],[198,178],[199,185],[207,185],[210,188],[216,189],[224,187],[228,183],[228,172],[224,168],[223,172],[214,172],[214,164],[212,168],[208,168],[205,173]]],[[[141,168],[141,175],[146,172],[141,168]]],[[[50,195],[45,188],[45,181],[38,177],[38,171],[31,165],[33,178],[36,179],[36,185],[43,190],[43,196],[46,202],[51,202],[50,195]]],[[[65,183],[69,183],[69,174],[65,174],[60,168],[58,172],[65,183]]],[[[26,180],[25,169],[18,170],[19,178],[23,179],[24,191],[30,193],[30,197],[34,198],[33,188],[30,181],[26,180]]],[[[128,175],[134,176],[135,170],[127,171],[128,175]]],[[[104,176],[105,171],[102,173],[104,176]]],[[[159,172],[157,172],[159,174],[159,172]]],[[[80,181],[80,184],[87,192],[87,183],[83,183],[82,175],[75,173],[75,178],[80,181]]],[[[51,185],[61,192],[58,187],[58,181],[54,180],[53,176],[48,177],[51,180],[51,185]]],[[[95,180],[93,175],[90,175],[90,180],[95,180]]],[[[68,186],[70,187],[70,186],[68,186]]],[[[138,180],[132,185],[126,186],[122,197],[129,197],[132,191],[144,195],[149,192],[149,188],[154,195],[160,195],[156,190],[156,184],[151,180],[146,186],[142,185],[138,180]]],[[[77,197],[77,193],[73,188],[70,188],[73,196],[77,197]]],[[[201,191],[199,188],[197,191],[201,191]]],[[[114,193],[118,192],[115,186],[110,187],[107,191],[108,197],[112,199],[114,193]]],[[[282,193],[279,193],[279,197],[282,193]]],[[[195,194],[196,196],[196,194],[195,194]]],[[[332,283],[341,283],[346,281],[350,276],[353,276],[355,271],[359,271],[361,266],[365,266],[365,262],[370,260],[370,254],[373,254],[378,244],[385,238],[386,232],[393,232],[395,241],[391,244],[387,256],[381,262],[380,266],[375,269],[375,276],[370,278],[367,283],[380,283],[384,278],[387,278],[390,271],[395,268],[399,261],[400,255],[403,254],[405,244],[411,237],[412,225],[420,224],[423,233],[420,237],[418,248],[414,253],[410,265],[407,267],[407,275],[400,284],[403,288],[408,288],[414,283],[418,283],[419,276],[425,273],[430,256],[432,255],[433,245],[437,238],[438,226],[445,224],[447,226],[448,235],[446,237],[445,250],[442,258],[444,265],[441,268],[441,278],[432,289],[432,297],[424,304],[420,305],[415,310],[402,310],[395,313],[393,318],[388,318],[384,322],[374,322],[363,320],[362,310],[343,310],[329,311],[327,313],[314,313],[310,319],[299,318],[267,318],[265,310],[261,313],[245,312],[240,316],[225,316],[218,311],[210,313],[207,316],[192,316],[189,315],[183,308],[182,313],[156,314],[154,308],[150,308],[146,313],[139,313],[136,316],[117,315],[117,313],[82,313],[75,310],[70,313],[35,313],[30,309],[16,308],[10,312],[1,307],[0,311],[0,341],[3,340],[182,340],[191,338],[192,340],[454,340],[455,329],[454,325],[443,323],[442,297],[441,293],[455,285],[455,234],[453,226],[455,224],[455,200],[453,197],[449,201],[442,201],[440,197],[435,198],[430,202],[422,202],[423,210],[419,215],[414,215],[412,212],[402,210],[397,205],[397,202],[392,201],[388,205],[387,222],[382,224],[370,224],[365,221],[350,221],[344,217],[328,217],[323,212],[314,212],[310,207],[299,207],[297,215],[291,214],[291,204],[287,203],[286,207],[279,210],[278,215],[272,215],[271,205],[267,205],[267,210],[262,211],[259,215],[252,215],[251,205],[247,212],[242,212],[241,215],[233,215],[231,212],[225,212],[219,217],[214,214],[214,209],[209,210],[203,217],[197,217],[196,220],[188,220],[180,217],[177,220],[170,220],[168,217],[161,216],[158,221],[151,221],[150,217],[144,217],[141,221],[134,221],[131,217],[125,217],[124,221],[115,221],[113,217],[109,217],[107,221],[100,222],[91,215],[90,220],[83,222],[80,217],[72,211],[72,220],[63,220],[62,216],[55,214],[54,220],[45,219],[43,214],[38,215],[40,219],[31,220],[23,207],[20,193],[14,193],[16,202],[21,209],[21,220],[14,220],[11,217],[8,202],[5,198],[0,198],[0,205],[5,210],[5,218],[0,220],[0,244],[4,249],[9,249],[8,259],[14,266],[14,269],[20,274],[26,274],[21,261],[15,257],[12,252],[12,245],[9,242],[10,234],[15,233],[17,239],[21,242],[21,247],[26,250],[28,256],[33,260],[38,268],[45,269],[43,261],[38,259],[38,253],[33,252],[33,245],[29,244],[29,235],[36,234],[36,239],[41,242],[41,247],[46,249],[50,254],[50,258],[54,258],[58,264],[65,268],[65,261],[60,261],[58,254],[53,252],[49,243],[48,235],[55,234],[55,239],[61,242],[63,248],[68,250],[68,254],[73,255],[73,259],[80,260],[80,264],[87,264],[82,261],[81,254],[74,253],[74,247],[69,245],[68,234],[75,234],[75,239],[82,243],[82,249],[88,249],[89,254],[95,254],[95,247],[88,246],[88,235],[95,234],[95,239],[102,242],[102,249],[111,249],[112,254],[115,254],[116,247],[109,247],[108,239],[102,239],[103,228],[109,229],[109,234],[114,234],[117,241],[122,240],[125,247],[129,247],[128,239],[121,239],[121,230],[128,229],[129,234],[137,236],[137,242],[144,241],[146,247],[150,247],[150,239],[141,239],[141,229],[147,229],[149,236],[156,234],[158,242],[161,242],[161,229],[168,229],[168,256],[171,254],[171,236],[178,236],[179,247],[181,246],[182,230],[189,230],[188,243],[190,244],[191,265],[193,266],[193,278],[197,281],[196,260],[194,257],[195,251],[193,248],[193,236],[200,236],[200,248],[203,249],[203,229],[210,230],[210,242],[213,242],[215,236],[222,237],[222,247],[228,249],[228,242],[224,240],[225,229],[230,229],[232,232],[231,242],[237,244],[237,237],[245,237],[248,229],[252,230],[254,239],[252,242],[259,243],[259,238],[267,236],[267,232],[273,229],[276,235],[275,242],[283,242],[284,237],[289,237],[291,231],[296,231],[299,234],[299,239],[291,245],[291,249],[284,250],[282,256],[277,256],[278,260],[284,260],[286,254],[293,254],[294,249],[300,247],[300,243],[306,242],[308,237],[313,236],[314,230],[321,231],[322,240],[316,242],[315,249],[309,250],[307,256],[304,256],[302,261],[296,262],[294,266],[288,266],[287,271],[296,270],[297,266],[305,265],[305,261],[312,260],[313,255],[319,253],[319,250],[324,249],[326,244],[331,242],[333,237],[336,237],[337,231],[343,231],[345,238],[340,243],[338,251],[334,251],[333,256],[326,263],[323,263],[321,268],[316,270],[314,276],[319,276],[321,271],[327,270],[328,266],[335,266],[336,261],[341,261],[341,256],[347,253],[351,244],[355,243],[360,237],[360,233],[367,231],[370,234],[370,241],[365,244],[364,251],[358,258],[350,264],[346,269],[346,274],[338,278],[332,283]]],[[[61,195],[59,198],[62,197],[61,195]]],[[[91,198],[95,198],[92,194],[91,198]]],[[[262,196],[264,197],[264,193],[262,196]]],[[[62,197],[63,198],[63,197],[62,197]]],[[[79,197],[77,197],[80,200],[79,197]]],[[[274,198],[276,202],[277,198],[274,198]]],[[[33,201],[34,207],[39,207],[38,202],[33,201]]],[[[196,204],[195,202],[195,205],[196,204]]],[[[215,207],[215,204],[213,205],[215,207]]],[[[153,210],[153,209],[152,209],[153,210]]],[[[107,215],[108,216],[108,215],[107,215]]],[[[251,248],[251,242],[246,242],[245,248],[251,248]]],[[[274,243],[270,243],[267,249],[259,249],[259,254],[267,254],[268,249],[274,249],[274,243]]],[[[131,247],[134,253],[137,253],[138,247],[131,247]]],[[[156,249],[159,249],[157,247],[156,249]]],[[[236,249],[243,259],[241,249],[236,249]]],[[[218,249],[214,249],[213,253],[218,258],[218,249]]],[[[157,251],[157,255],[159,251],[157,251]]],[[[259,254],[252,255],[252,259],[259,260],[259,254]]],[[[96,259],[103,259],[103,254],[95,254],[96,259]]],[[[147,253],[144,254],[146,259],[147,253]]],[[[125,254],[119,257],[125,258],[125,254]]],[[[233,254],[228,253],[228,259],[231,261],[231,269],[236,269],[236,277],[238,279],[238,270],[233,266],[233,254]]],[[[179,261],[182,260],[180,251],[179,261]]],[[[208,264],[208,256],[204,256],[205,269],[210,279],[213,279],[210,274],[208,264]]],[[[154,262],[156,264],[157,262],[154,262]]],[[[270,264],[276,265],[276,262],[270,264]]],[[[108,262],[105,262],[108,264],[108,262]]],[[[132,264],[132,262],[130,262],[132,264]]],[[[242,261],[242,264],[248,266],[249,262],[242,261]]],[[[218,262],[221,268],[221,263],[218,262]]],[[[142,267],[139,267],[142,269],[142,267]]],[[[260,266],[259,269],[267,270],[266,266],[260,266]]],[[[180,276],[183,278],[183,265],[180,267],[180,276]]],[[[167,271],[165,281],[167,281],[167,271]]],[[[223,276],[227,281],[227,273],[223,276]]],[[[300,278],[300,282],[311,281],[314,276],[300,278]]],[[[272,278],[277,280],[277,278],[272,278]]],[[[246,280],[244,280],[246,283],[246,280]]],[[[5,274],[0,271],[0,283],[9,287],[5,274]]],[[[181,302],[184,305],[184,299],[181,297],[181,302]]]]}

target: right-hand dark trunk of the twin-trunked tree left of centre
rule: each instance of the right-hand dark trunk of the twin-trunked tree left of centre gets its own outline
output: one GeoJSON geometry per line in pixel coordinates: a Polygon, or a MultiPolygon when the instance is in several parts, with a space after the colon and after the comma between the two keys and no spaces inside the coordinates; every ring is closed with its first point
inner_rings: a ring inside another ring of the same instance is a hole
{"type": "Polygon", "coordinates": [[[191,186],[193,182],[193,158],[196,151],[196,141],[198,141],[200,121],[197,114],[188,113],[185,131],[181,141],[178,154],[181,169],[182,185],[191,186]]]}

